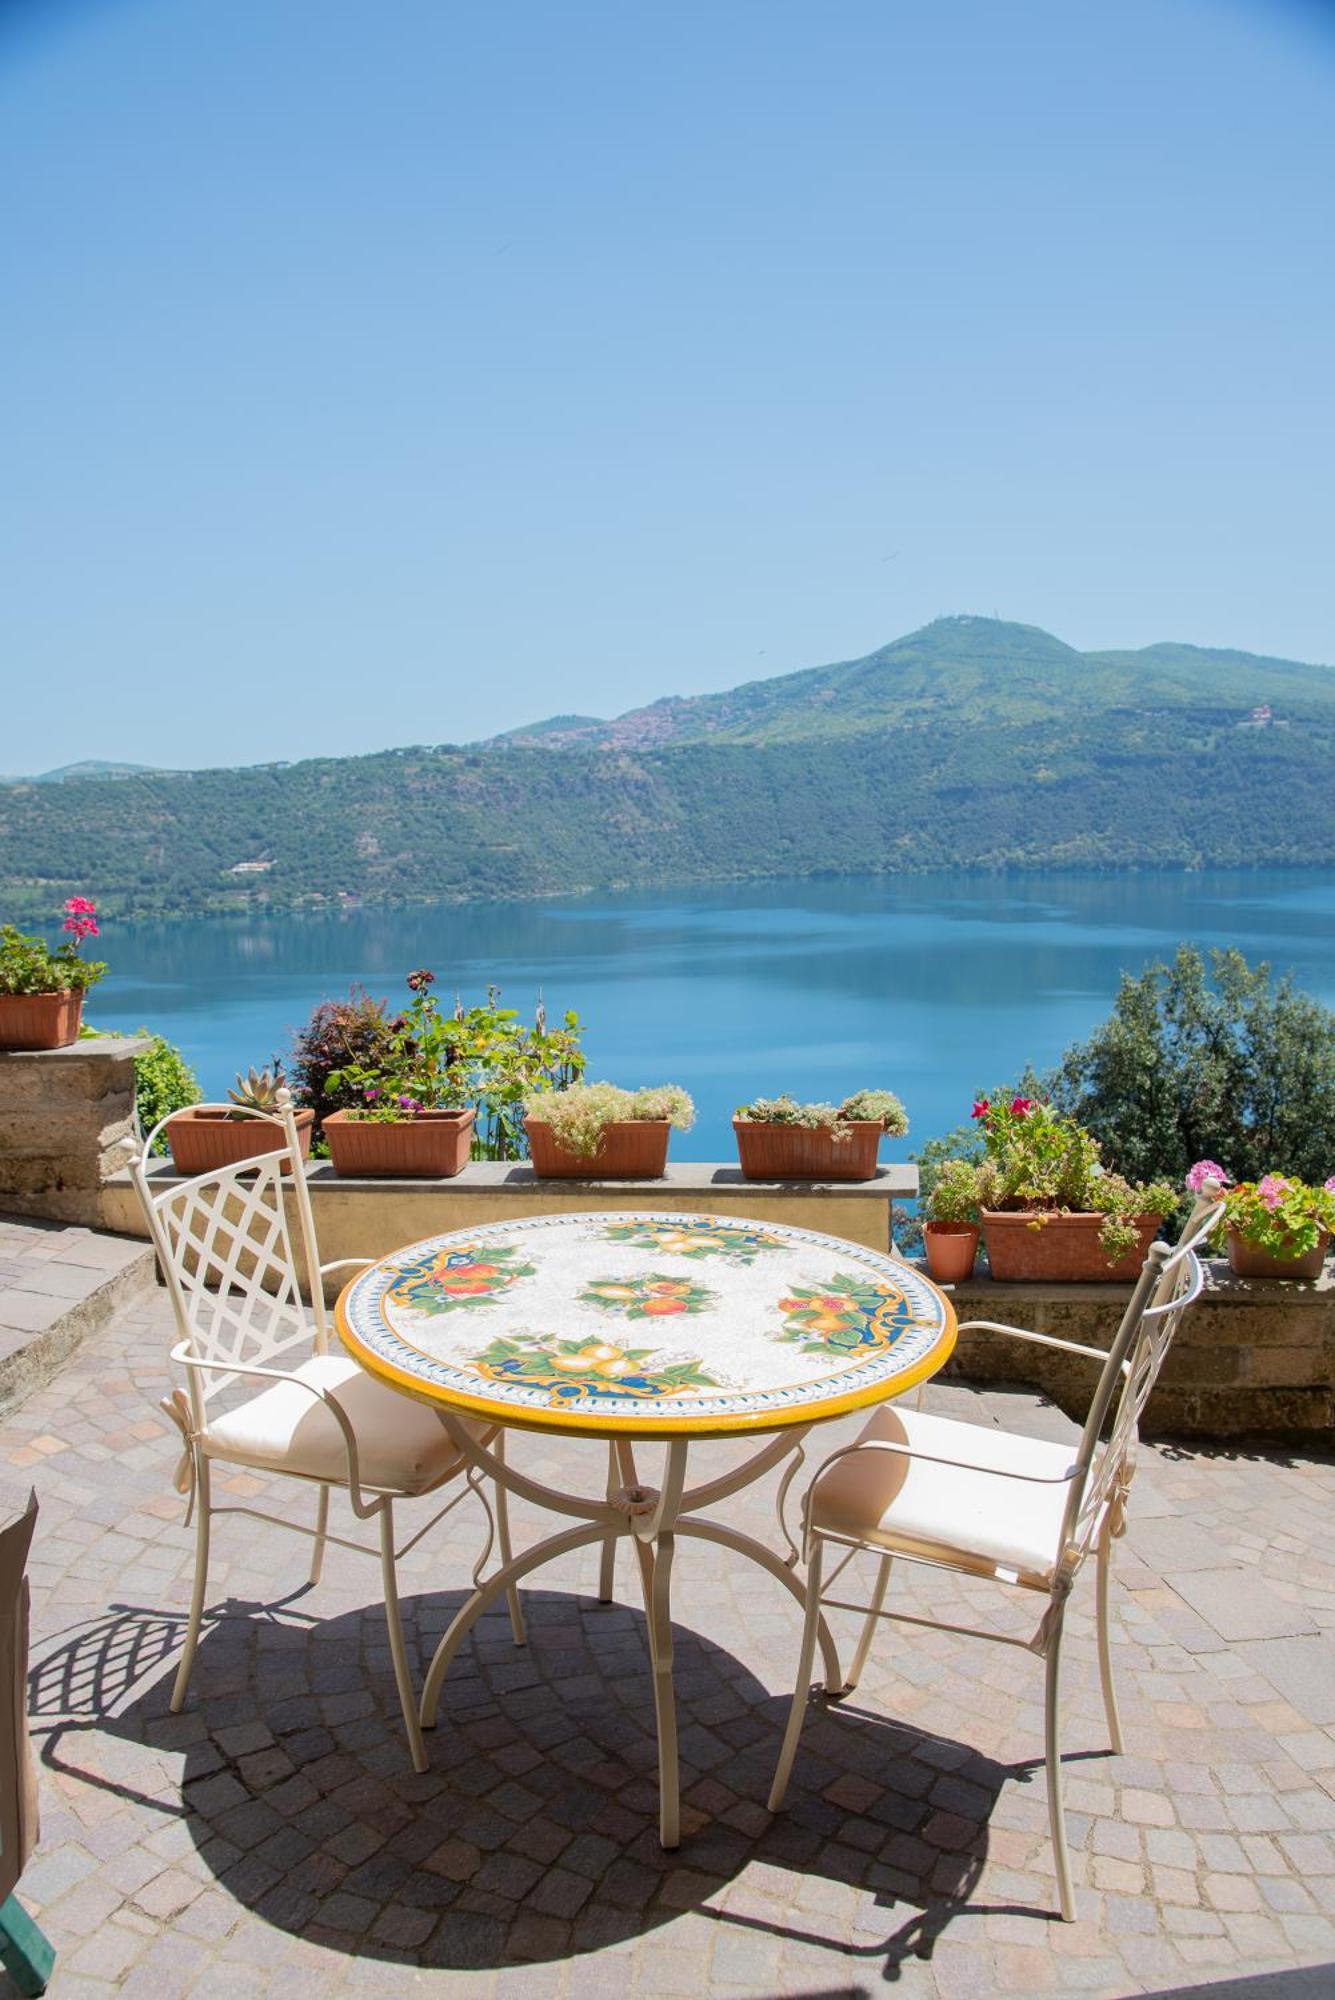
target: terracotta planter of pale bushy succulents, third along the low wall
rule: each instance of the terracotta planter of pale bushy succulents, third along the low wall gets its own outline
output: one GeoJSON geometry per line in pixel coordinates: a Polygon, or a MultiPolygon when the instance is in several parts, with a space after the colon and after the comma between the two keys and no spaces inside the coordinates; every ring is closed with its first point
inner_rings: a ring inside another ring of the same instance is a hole
{"type": "Polygon", "coordinates": [[[695,1106],[679,1084],[620,1090],[570,1084],[528,1100],[524,1130],[534,1172],[556,1180],[658,1180],[671,1128],[689,1132],[695,1106]]]}

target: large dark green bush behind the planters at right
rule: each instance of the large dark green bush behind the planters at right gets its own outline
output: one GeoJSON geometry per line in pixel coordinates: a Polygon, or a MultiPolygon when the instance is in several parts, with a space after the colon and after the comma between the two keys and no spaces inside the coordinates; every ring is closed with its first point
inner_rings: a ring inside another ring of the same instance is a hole
{"type": "Polygon", "coordinates": [[[1335,1166],[1335,1014],[1241,952],[1127,974],[1109,1020],[1069,1048],[1053,1102],[1123,1174],[1185,1178],[1201,1158],[1239,1180],[1323,1180],[1335,1166]]]}

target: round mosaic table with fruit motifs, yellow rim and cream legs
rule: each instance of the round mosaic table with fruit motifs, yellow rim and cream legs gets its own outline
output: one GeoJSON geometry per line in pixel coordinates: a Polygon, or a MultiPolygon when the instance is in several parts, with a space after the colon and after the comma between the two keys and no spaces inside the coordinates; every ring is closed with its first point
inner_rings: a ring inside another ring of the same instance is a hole
{"type": "MultiPolygon", "coordinates": [[[[675,1536],[719,1542],[775,1576],[801,1604],[797,1550],[701,1510],[789,1458],[783,1498],[811,1424],[903,1394],[955,1344],[955,1314],[897,1258],[835,1236],[737,1216],[662,1212],[530,1216],[408,1244],[346,1286],[338,1332],[382,1382],[430,1402],[476,1474],[574,1516],[478,1586],[444,1634],[422,1692],[432,1728],[450,1662],[476,1620],[540,1564],[604,1544],[600,1596],[612,1598],[618,1540],[630,1540],[646,1604],[660,1746],[660,1834],[679,1838],[671,1692],[675,1536]],[[606,1440],[608,1492],[596,1500],[528,1478],[476,1424],[606,1440]],[[693,1442],[753,1434],[743,1464],[687,1486],[693,1442]],[[646,1486],[636,1442],[664,1442],[646,1486]]],[[[514,1598],[512,1598],[514,1602],[514,1598]]],[[[825,1688],[841,1688],[821,1626],[825,1688]]]]}

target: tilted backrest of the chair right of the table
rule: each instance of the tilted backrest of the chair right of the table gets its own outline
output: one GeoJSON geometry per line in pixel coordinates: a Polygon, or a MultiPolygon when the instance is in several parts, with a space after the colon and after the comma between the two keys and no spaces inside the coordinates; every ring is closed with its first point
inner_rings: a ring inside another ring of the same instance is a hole
{"type": "Polygon", "coordinates": [[[1215,1234],[1221,1210],[1221,1190],[1207,1182],[1177,1242],[1149,1246],[1081,1432],[1061,1536],[1067,1560],[1079,1562],[1089,1552],[1105,1506],[1127,1478],[1149,1392],[1187,1306],[1201,1296],[1199,1252],[1215,1234]]]}

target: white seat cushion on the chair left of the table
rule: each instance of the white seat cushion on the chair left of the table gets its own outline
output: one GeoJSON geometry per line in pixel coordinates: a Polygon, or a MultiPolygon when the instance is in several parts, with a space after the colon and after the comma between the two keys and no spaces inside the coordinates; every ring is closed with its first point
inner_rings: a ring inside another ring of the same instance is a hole
{"type": "MultiPolygon", "coordinates": [[[[346,1354],[316,1354],[292,1370],[298,1382],[330,1390],[358,1440],[364,1486],[386,1492],[424,1492],[440,1484],[462,1460],[440,1418],[384,1388],[346,1354]]],[[[338,1418],[306,1390],[274,1382],[208,1424],[210,1458],[236,1460],[264,1472],[296,1472],[312,1480],[348,1484],[348,1450],[338,1418]]]]}

